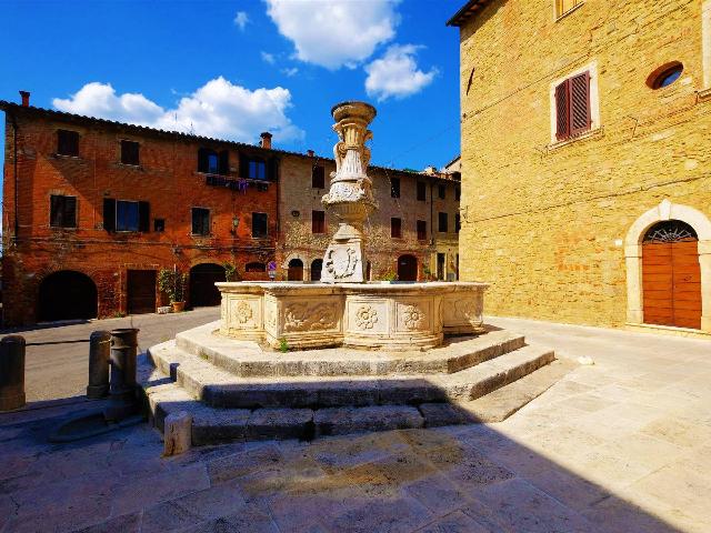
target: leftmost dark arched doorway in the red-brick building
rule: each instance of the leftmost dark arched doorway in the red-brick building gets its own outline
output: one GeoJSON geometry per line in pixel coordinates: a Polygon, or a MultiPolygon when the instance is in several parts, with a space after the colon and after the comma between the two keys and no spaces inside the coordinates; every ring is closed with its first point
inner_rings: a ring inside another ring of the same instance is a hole
{"type": "Polygon", "coordinates": [[[96,319],[97,285],[86,274],[62,270],[42,280],[39,291],[39,320],[96,319]]]}

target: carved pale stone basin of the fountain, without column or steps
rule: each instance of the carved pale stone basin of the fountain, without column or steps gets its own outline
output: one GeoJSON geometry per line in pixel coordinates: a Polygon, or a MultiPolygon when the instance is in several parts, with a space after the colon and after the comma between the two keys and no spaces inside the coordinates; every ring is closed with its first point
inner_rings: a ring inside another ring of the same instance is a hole
{"type": "Polygon", "coordinates": [[[222,282],[220,333],[271,348],[428,350],[483,332],[487,283],[222,282]]]}

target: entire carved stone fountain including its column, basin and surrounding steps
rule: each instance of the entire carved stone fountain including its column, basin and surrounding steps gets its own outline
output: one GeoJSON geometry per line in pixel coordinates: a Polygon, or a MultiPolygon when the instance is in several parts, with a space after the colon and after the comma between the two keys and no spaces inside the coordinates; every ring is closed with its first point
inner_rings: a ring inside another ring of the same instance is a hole
{"type": "Polygon", "coordinates": [[[322,281],[217,283],[218,322],[149,350],[142,381],[158,428],[187,411],[192,443],[208,444],[493,421],[554,381],[517,381],[550,372],[554,355],[483,325],[485,283],[365,282],[375,109],[331,112],[337,170],[322,201],[339,227],[322,281]]]}

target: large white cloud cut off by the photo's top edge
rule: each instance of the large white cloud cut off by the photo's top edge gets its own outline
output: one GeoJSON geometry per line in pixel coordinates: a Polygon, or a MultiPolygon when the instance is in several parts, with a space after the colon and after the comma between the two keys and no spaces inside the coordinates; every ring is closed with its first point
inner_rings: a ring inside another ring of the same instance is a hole
{"type": "Polygon", "coordinates": [[[296,57],[327,69],[356,68],[395,34],[399,0],[264,0],[296,57]]]}

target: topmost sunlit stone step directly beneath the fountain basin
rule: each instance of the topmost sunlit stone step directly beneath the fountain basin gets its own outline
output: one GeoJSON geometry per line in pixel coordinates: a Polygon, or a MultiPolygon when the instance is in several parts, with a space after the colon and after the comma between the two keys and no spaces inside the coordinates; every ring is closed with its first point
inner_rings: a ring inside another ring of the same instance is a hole
{"type": "Polygon", "coordinates": [[[253,342],[221,338],[214,334],[216,328],[217,323],[211,323],[179,333],[174,348],[239,378],[454,373],[525,345],[523,335],[502,330],[475,338],[452,338],[427,352],[337,348],[281,353],[264,351],[253,342]]]}

